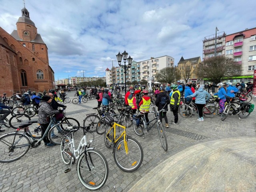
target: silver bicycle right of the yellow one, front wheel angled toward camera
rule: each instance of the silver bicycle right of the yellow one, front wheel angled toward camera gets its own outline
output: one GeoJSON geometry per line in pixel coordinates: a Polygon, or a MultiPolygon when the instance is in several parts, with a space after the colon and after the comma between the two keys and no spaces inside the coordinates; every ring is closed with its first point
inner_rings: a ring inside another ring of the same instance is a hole
{"type": "MultiPolygon", "coordinates": [[[[169,103],[169,102],[167,102],[167,103],[169,103]]],[[[148,123],[146,122],[145,113],[140,113],[133,117],[134,118],[133,130],[136,133],[136,135],[143,136],[143,135],[146,135],[148,133],[148,131],[157,123],[157,130],[158,130],[160,142],[162,144],[164,151],[167,151],[168,150],[167,138],[166,138],[166,135],[164,132],[164,128],[162,126],[162,122],[159,119],[159,114],[161,112],[166,112],[166,111],[164,110],[164,107],[162,110],[156,111],[156,107],[154,106],[154,104],[152,105],[152,110],[153,111],[150,111],[150,113],[154,114],[154,119],[149,121],[148,123]],[[137,122],[137,120],[138,120],[138,122],[137,122]],[[149,125],[153,121],[155,121],[154,124],[149,125]]]]}

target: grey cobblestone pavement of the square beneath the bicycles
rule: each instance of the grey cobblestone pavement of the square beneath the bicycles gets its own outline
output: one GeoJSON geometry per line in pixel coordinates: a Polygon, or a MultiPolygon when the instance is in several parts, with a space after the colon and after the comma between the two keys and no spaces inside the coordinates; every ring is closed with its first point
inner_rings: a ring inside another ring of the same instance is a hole
{"type": "MultiPolygon", "coordinates": [[[[74,92],[68,93],[74,98],[74,92]]],[[[255,101],[255,98],[253,99],[255,101]]],[[[252,101],[254,103],[254,101],[252,101]]],[[[86,114],[95,112],[96,100],[88,100],[86,104],[67,104],[66,114],[83,124],[86,114]]],[[[200,142],[231,138],[237,136],[256,136],[255,111],[246,119],[239,120],[238,116],[228,116],[224,122],[220,117],[205,118],[198,122],[197,116],[182,118],[179,124],[165,128],[168,140],[168,151],[164,152],[156,129],[150,130],[146,138],[139,137],[132,127],[127,128],[127,134],[140,142],[144,151],[144,159],[138,170],[132,173],[122,172],[115,164],[112,149],[107,149],[103,137],[94,133],[92,147],[100,150],[108,161],[109,175],[106,184],[99,191],[121,192],[128,191],[138,180],[145,176],[156,165],[174,154],[200,142]]],[[[152,118],[149,114],[149,118],[152,118]]],[[[172,112],[168,112],[168,120],[173,120],[172,112]]],[[[6,133],[13,132],[12,128],[4,128],[6,133]]],[[[80,132],[81,133],[81,132],[80,132]]],[[[81,138],[79,131],[75,133],[78,143],[81,138]]],[[[87,134],[88,140],[92,135],[87,134]]],[[[31,148],[28,153],[10,163],[0,163],[0,191],[89,191],[80,181],[74,165],[71,172],[64,173],[67,166],[62,162],[60,146],[46,148],[44,145],[31,148]]]]}

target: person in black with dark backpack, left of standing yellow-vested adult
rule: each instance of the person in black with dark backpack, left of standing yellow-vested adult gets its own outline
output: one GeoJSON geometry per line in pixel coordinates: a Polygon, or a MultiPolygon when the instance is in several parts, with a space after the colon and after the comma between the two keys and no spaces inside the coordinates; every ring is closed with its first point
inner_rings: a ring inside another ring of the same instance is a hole
{"type": "Polygon", "coordinates": [[[162,123],[162,118],[164,118],[165,121],[165,127],[169,127],[168,125],[168,119],[166,116],[166,113],[168,111],[168,104],[170,103],[169,96],[164,92],[164,89],[160,91],[160,94],[158,94],[156,98],[156,106],[158,107],[158,111],[164,109],[165,112],[159,113],[159,119],[162,123]],[[168,101],[168,102],[167,102],[168,101]]]}

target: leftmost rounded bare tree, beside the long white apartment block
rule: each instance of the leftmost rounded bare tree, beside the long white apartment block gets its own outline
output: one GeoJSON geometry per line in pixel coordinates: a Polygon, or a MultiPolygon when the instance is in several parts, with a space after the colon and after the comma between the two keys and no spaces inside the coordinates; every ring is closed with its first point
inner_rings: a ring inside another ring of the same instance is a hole
{"type": "Polygon", "coordinates": [[[177,82],[180,79],[180,70],[175,67],[166,67],[161,69],[156,74],[156,79],[159,82],[167,82],[169,84],[177,82]]]}

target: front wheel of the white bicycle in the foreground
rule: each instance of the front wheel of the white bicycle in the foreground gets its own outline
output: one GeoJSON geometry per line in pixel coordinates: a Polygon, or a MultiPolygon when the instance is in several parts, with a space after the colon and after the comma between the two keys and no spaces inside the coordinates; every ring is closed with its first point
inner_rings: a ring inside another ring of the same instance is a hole
{"type": "Polygon", "coordinates": [[[108,179],[108,162],[104,155],[95,149],[88,149],[87,154],[83,152],[80,155],[76,170],[80,182],[90,190],[101,188],[108,179]]]}

